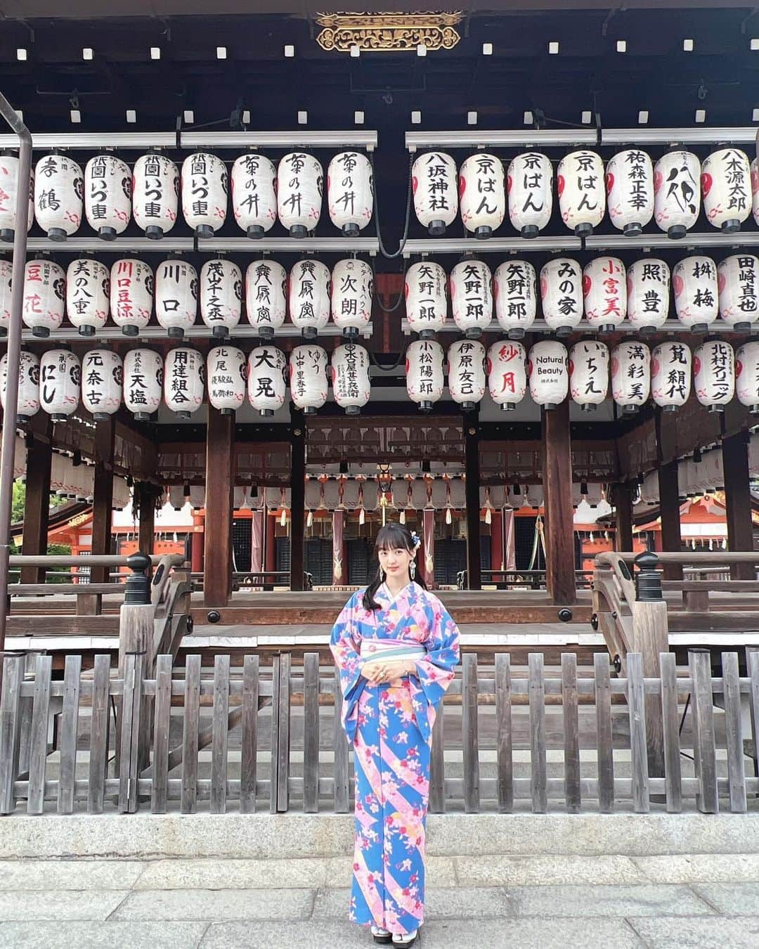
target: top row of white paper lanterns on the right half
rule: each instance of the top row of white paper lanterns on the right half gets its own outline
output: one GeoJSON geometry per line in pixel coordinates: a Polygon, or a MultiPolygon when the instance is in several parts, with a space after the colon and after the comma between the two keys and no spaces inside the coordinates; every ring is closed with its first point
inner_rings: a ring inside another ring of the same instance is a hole
{"type": "MultiPolygon", "coordinates": [[[[434,235],[460,214],[467,231],[487,238],[508,211],[523,237],[535,237],[553,212],[553,168],[539,152],[518,155],[507,174],[497,156],[471,155],[457,182],[454,158],[429,152],[416,159],[412,176],[417,219],[434,235]]],[[[707,220],[726,233],[739,231],[750,214],[759,224],[759,166],[739,148],[718,149],[703,163],[693,152],[672,151],[656,166],[646,152],[630,148],[611,158],[605,173],[601,156],[581,149],[559,162],[556,193],[562,220],[580,236],[593,233],[608,207],[624,234],[641,233],[653,217],[670,237],[683,237],[702,199],[707,220]]]]}

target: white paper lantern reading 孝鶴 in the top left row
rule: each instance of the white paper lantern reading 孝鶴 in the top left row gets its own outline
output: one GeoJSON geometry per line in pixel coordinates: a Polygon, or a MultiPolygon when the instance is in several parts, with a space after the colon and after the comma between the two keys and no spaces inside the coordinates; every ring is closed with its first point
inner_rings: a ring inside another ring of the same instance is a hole
{"type": "Polygon", "coordinates": [[[34,169],[34,216],[50,240],[65,240],[82,223],[84,177],[66,155],[46,155],[34,169]]]}

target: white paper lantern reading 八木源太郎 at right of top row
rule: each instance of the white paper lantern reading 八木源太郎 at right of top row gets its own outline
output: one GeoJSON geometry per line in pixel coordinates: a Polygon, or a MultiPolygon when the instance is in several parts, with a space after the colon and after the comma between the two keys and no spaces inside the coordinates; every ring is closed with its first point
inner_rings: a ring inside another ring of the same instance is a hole
{"type": "Polygon", "coordinates": [[[737,233],[751,213],[751,169],[746,152],[720,148],[701,165],[704,214],[715,228],[737,233]]]}

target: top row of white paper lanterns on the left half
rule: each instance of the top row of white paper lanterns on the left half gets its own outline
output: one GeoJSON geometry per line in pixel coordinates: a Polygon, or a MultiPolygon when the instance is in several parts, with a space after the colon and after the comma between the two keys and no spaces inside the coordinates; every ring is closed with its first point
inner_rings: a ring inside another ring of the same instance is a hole
{"type": "MultiPolygon", "coordinates": [[[[0,239],[15,231],[18,159],[0,158],[0,239]]],[[[161,238],[176,224],[179,209],[198,237],[213,237],[231,210],[249,237],[263,237],[279,221],[293,237],[313,231],[322,214],[324,169],[312,155],[291,152],[277,168],[264,155],[242,155],[231,175],[221,158],[205,152],[184,159],[181,171],[171,158],[143,155],[130,169],[115,155],[97,155],[82,167],[67,155],[46,155],[29,183],[32,219],[51,240],[79,230],[83,216],[103,240],[114,240],[130,220],[147,237],[161,238]],[[228,181],[229,178],[229,181],[228,181]]],[[[329,162],[326,178],[329,218],[346,236],[371,220],[372,166],[361,152],[341,152],[329,162]]]]}

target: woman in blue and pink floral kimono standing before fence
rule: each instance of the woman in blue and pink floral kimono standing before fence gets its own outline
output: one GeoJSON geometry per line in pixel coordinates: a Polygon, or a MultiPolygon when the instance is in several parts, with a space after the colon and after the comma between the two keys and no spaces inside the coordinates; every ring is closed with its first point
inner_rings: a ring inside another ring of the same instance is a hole
{"type": "Polygon", "coordinates": [[[458,627],[415,579],[418,547],[404,525],[379,529],[377,575],[345,604],[331,640],[356,772],[349,918],[401,946],[424,918],[432,730],[459,656],[458,627]]]}

